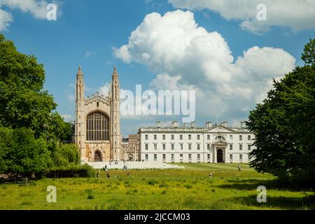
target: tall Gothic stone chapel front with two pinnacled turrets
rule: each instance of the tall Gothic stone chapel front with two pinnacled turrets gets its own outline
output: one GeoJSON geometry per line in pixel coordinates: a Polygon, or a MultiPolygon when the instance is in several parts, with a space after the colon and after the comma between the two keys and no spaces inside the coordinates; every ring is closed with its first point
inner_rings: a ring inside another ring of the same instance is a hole
{"type": "Polygon", "coordinates": [[[123,151],[120,151],[120,83],[116,67],[109,94],[97,93],[85,98],[83,72],[79,66],[74,141],[84,162],[123,160],[123,151]]]}

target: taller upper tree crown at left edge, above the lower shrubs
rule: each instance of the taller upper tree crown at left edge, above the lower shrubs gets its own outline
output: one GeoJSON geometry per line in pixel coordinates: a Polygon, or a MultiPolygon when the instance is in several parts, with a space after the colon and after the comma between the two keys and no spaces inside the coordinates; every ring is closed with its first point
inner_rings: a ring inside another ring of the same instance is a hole
{"type": "Polygon", "coordinates": [[[45,70],[33,55],[16,50],[0,34],[0,125],[27,127],[48,143],[69,139],[71,125],[55,112],[57,104],[43,90],[45,70]]]}

